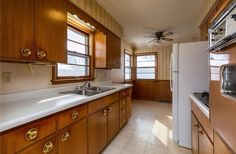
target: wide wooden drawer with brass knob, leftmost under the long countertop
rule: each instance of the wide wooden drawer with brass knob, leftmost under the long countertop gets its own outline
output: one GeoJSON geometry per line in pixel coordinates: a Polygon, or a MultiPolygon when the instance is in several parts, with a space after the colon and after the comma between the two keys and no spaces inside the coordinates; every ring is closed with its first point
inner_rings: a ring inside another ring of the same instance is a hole
{"type": "Polygon", "coordinates": [[[4,154],[15,153],[56,131],[55,116],[32,122],[1,136],[4,154]]]}

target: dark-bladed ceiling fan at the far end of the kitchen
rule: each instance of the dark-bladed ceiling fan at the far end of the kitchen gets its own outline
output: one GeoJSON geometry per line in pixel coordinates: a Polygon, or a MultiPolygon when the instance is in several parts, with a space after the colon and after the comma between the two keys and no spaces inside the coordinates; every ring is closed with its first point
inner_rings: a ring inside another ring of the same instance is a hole
{"type": "Polygon", "coordinates": [[[154,41],[156,41],[155,43],[159,43],[161,40],[173,41],[173,39],[167,38],[168,36],[171,36],[171,35],[173,35],[173,32],[166,32],[166,33],[164,33],[164,32],[156,32],[152,36],[145,36],[145,37],[154,38],[154,39],[152,39],[151,41],[148,42],[148,44],[149,44],[149,43],[152,43],[154,41]]]}

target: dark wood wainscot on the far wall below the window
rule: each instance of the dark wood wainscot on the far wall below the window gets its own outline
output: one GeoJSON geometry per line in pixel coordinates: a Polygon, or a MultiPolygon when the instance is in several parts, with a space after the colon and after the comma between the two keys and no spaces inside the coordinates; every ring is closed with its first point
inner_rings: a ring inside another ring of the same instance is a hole
{"type": "Polygon", "coordinates": [[[135,80],[133,84],[133,97],[135,99],[154,101],[171,101],[172,99],[169,80],[135,80]]]}

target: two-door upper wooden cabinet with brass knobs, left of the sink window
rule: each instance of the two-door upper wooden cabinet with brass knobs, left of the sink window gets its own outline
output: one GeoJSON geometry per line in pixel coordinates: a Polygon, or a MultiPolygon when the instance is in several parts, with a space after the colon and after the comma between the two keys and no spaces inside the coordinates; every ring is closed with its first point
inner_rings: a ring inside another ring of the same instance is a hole
{"type": "Polygon", "coordinates": [[[1,60],[66,62],[64,0],[1,0],[1,60]]]}

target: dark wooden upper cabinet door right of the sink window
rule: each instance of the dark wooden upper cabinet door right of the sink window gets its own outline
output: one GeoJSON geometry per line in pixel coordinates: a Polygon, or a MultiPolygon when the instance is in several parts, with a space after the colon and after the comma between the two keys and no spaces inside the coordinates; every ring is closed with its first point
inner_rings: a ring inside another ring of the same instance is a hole
{"type": "Polygon", "coordinates": [[[112,33],[107,34],[107,67],[121,67],[121,40],[112,33]]]}

